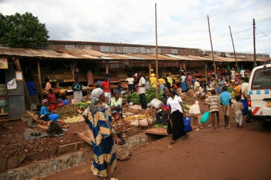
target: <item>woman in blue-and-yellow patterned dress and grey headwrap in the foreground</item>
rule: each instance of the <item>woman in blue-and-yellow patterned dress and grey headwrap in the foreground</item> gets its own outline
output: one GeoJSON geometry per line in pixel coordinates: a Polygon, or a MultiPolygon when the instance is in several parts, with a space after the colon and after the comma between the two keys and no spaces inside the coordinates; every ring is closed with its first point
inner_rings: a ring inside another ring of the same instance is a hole
{"type": "Polygon", "coordinates": [[[113,173],[116,169],[113,138],[118,144],[121,142],[113,131],[110,112],[102,105],[105,99],[103,90],[96,88],[91,92],[91,106],[83,112],[85,122],[91,129],[90,136],[94,154],[91,171],[102,179],[107,179],[109,171],[113,173]]]}

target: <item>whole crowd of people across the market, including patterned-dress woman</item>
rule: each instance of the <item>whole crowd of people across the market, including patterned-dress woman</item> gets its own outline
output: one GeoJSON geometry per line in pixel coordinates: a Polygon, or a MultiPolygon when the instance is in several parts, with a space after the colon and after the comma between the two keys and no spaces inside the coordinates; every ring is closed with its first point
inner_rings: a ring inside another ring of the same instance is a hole
{"type": "MultiPolygon", "coordinates": [[[[232,69],[224,77],[222,75],[218,75],[217,77],[214,74],[210,75],[205,82],[200,82],[198,78],[183,71],[180,74],[179,84],[168,74],[165,77],[159,75],[158,80],[156,80],[154,73],[148,77],[143,72],[136,73],[135,75],[128,74],[126,82],[128,84],[129,95],[133,92],[138,92],[140,105],[143,110],[147,109],[145,100],[146,89],[158,87],[163,92],[163,103],[157,110],[155,126],[166,128],[168,134],[172,134],[170,144],[174,144],[180,137],[188,138],[188,134],[184,131],[183,123],[183,117],[187,117],[187,113],[184,110],[180,92],[187,92],[192,89],[196,92],[195,97],[202,99],[205,98],[206,93],[210,92],[208,105],[213,129],[216,128],[215,117],[218,127],[220,126],[220,106],[223,109],[225,128],[230,128],[230,108],[235,110],[237,127],[242,127],[242,115],[247,113],[247,80],[244,70],[241,70],[240,76],[237,76],[235,70],[232,69]],[[222,88],[222,92],[220,88],[222,88]],[[233,97],[235,98],[234,103],[231,101],[233,97]]],[[[33,80],[27,83],[27,88],[29,89],[31,100],[39,104],[33,80]]],[[[48,120],[48,115],[53,113],[53,110],[61,103],[61,100],[66,99],[66,95],[65,90],[61,90],[59,97],[56,97],[48,80],[46,81],[45,90],[46,99],[41,102],[40,115],[41,119],[48,120]]],[[[83,95],[82,85],[78,82],[78,78],[75,78],[72,90],[73,98],[76,102],[80,102],[83,95]]],[[[91,143],[93,145],[94,160],[91,170],[93,174],[102,179],[107,179],[108,174],[116,169],[116,152],[113,148],[114,139],[116,143],[120,143],[121,139],[113,131],[111,120],[112,117],[116,120],[123,117],[122,92],[123,89],[121,86],[117,85],[116,90],[113,91],[113,97],[111,97],[110,79],[106,75],[103,81],[98,80],[96,89],[91,92],[91,106],[83,112],[85,121],[92,132],[91,143]]]]}

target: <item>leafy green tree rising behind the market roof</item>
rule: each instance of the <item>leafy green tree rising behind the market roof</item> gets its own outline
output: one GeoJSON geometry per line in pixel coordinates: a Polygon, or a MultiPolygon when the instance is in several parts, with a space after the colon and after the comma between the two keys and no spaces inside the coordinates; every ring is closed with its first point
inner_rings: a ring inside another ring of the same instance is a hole
{"type": "Polygon", "coordinates": [[[45,23],[31,13],[16,13],[10,16],[0,14],[0,43],[10,47],[46,46],[48,31],[45,23]]]}

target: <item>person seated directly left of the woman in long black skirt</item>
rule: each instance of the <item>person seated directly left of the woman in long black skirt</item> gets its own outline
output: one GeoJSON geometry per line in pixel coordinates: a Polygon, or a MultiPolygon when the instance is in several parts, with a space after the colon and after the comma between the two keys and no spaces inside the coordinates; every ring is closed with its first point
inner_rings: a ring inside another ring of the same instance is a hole
{"type": "Polygon", "coordinates": [[[167,104],[167,98],[163,97],[162,102],[163,103],[160,107],[160,110],[158,110],[158,112],[156,112],[155,127],[162,127],[162,123],[163,123],[163,127],[168,128],[167,120],[168,120],[169,105],[167,104]],[[161,121],[160,117],[162,117],[162,121],[161,121]]]}

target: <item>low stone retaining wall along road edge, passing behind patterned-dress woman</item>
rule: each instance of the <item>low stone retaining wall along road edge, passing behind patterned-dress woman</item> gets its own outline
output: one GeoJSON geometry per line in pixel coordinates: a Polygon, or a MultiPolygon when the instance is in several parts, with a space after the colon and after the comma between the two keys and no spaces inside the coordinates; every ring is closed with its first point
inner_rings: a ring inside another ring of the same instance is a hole
{"type": "MultiPolygon", "coordinates": [[[[148,141],[151,141],[151,139],[148,138],[145,133],[139,133],[126,139],[128,149],[144,146],[148,141]]],[[[92,148],[88,146],[85,149],[62,154],[52,159],[41,160],[16,169],[9,169],[0,174],[0,180],[25,180],[39,178],[58,171],[70,169],[71,167],[91,163],[91,161],[93,161],[93,151],[92,148]]]]}

